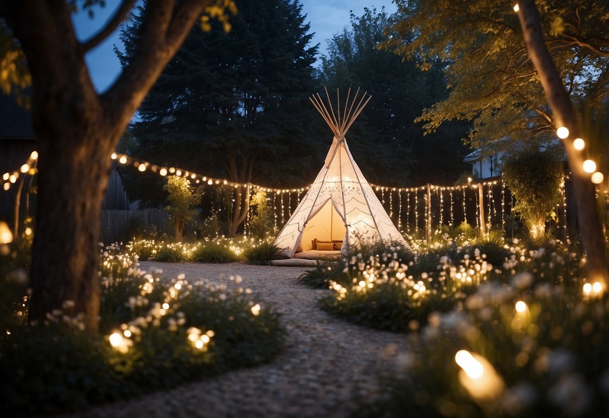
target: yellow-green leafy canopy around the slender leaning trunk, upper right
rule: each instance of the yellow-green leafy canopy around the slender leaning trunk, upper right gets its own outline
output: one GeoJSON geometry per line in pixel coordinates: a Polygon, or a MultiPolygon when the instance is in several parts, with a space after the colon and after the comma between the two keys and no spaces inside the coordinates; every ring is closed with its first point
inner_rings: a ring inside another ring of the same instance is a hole
{"type": "MultiPolygon", "coordinates": [[[[609,83],[609,7],[606,1],[540,0],[543,35],[576,105],[597,106],[609,83]]],[[[429,70],[439,60],[450,94],[417,119],[427,133],[445,121],[474,122],[469,142],[498,148],[502,141],[539,140],[555,130],[537,71],[529,59],[513,4],[499,0],[397,0],[400,19],[382,43],[429,70]]]]}

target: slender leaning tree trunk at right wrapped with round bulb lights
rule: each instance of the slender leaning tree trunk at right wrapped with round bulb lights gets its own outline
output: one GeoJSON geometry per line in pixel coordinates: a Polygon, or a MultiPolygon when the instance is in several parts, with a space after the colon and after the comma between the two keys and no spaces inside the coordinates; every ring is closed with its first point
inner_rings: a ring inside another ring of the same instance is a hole
{"type": "Polygon", "coordinates": [[[535,69],[540,76],[541,85],[546,92],[547,101],[554,114],[555,124],[557,127],[565,126],[569,129],[569,136],[563,140],[563,144],[572,173],[582,243],[588,256],[586,263],[588,280],[606,284],[605,241],[597,212],[596,190],[590,180],[590,174],[583,171],[582,154],[573,147],[575,138],[581,136],[579,117],[547,50],[535,1],[519,0],[518,5],[520,8],[518,16],[524,41],[529,49],[529,55],[535,69]]]}

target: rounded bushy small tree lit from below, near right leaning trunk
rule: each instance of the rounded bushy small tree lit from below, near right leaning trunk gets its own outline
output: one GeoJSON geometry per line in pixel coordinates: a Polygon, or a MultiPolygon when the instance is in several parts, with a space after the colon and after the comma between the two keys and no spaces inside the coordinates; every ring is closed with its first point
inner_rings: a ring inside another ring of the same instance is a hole
{"type": "Polygon", "coordinates": [[[524,149],[503,161],[505,185],[516,198],[512,208],[529,228],[533,239],[543,237],[548,217],[556,219],[560,204],[563,164],[557,152],[524,149]]]}

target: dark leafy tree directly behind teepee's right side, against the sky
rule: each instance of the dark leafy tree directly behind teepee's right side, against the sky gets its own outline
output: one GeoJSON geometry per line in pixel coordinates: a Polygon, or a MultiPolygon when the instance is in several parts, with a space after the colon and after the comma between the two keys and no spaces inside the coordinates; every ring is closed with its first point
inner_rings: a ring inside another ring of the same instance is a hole
{"type": "Polygon", "coordinates": [[[454,182],[465,169],[461,138],[468,124],[452,122],[423,138],[414,120],[423,108],[446,98],[442,66],[421,73],[415,63],[381,51],[385,27],[395,23],[384,9],[351,13],[351,28],[329,41],[320,81],[329,87],[361,87],[372,100],[348,133],[351,151],[368,180],[382,184],[454,182]],[[410,180],[410,182],[408,182],[410,180]]]}

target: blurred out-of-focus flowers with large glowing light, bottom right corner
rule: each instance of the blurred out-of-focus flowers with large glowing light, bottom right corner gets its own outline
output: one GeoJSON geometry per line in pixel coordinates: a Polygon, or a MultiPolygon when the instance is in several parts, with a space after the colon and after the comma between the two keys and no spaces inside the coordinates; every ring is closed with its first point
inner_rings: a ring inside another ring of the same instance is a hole
{"type": "Polygon", "coordinates": [[[361,416],[606,416],[609,297],[581,280],[577,292],[535,282],[485,284],[434,314],[382,375],[387,399],[361,416]]]}

